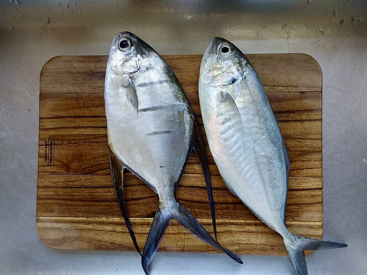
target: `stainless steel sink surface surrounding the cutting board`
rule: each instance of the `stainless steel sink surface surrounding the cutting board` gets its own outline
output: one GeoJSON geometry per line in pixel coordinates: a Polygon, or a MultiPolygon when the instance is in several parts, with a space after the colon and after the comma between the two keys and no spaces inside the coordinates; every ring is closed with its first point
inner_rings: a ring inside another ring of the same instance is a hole
{"type": "MultiPolygon", "coordinates": [[[[160,54],[202,54],[218,35],[245,53],[316,58],[324,238],[349,246],[308,256],[309,274],[366,274],[367,2],[213,2],[0,1],[0,274],[143,274],[138,253],[53,250],[35,227],[40,70],[57,55],[107,55],[121,30],[160,54]]],[[[286,257],[241,258],[157,253],[152,274],[294,274],[286,257]]]]}

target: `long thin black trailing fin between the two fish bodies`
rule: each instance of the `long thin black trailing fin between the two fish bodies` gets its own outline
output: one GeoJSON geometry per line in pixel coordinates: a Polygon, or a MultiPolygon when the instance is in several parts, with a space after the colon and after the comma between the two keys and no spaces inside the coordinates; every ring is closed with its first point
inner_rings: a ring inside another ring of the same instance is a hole
{"type": "Polygon", "coordinates": [[[214,198],[213,198],[213,190],[211,187],[210,181],[210,174],[209,174],[209,167],[207,157],[204,151],[203,140],[201,139],[199,128],[197,127],[196,122],[193,125],[193,141],[194,141],[194,150],[196,153],[197,158],[200,161],[201,169],[204,172],[205,183],[207,187],[209,205],[210,205],[210,212],[211,212],[211,220],[213,223],[214,235],[215,239],[218,241],[217,238],[217,225],[215,223],[215,207],[214,207],[214,198]]]}

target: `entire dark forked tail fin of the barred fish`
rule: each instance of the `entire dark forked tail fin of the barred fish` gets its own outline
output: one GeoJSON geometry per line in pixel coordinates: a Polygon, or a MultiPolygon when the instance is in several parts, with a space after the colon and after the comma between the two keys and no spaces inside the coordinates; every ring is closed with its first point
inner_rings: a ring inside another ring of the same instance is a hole
{"type": "Polygon", "coordinates": [[[162,209],[162,206],[159,205],[156,215],[153,220],[152,227],[150,227],[150,231],[148,234],[148,238],[146,239],[143,255],[141,258],[141,264],[145,271],[146,275],[149,275],[148,268],[150,263],[153,260],[154,255],[156,254],[160,242],[164,235],[164,230],[168,225],[168,220],[170,218],[177,219],[181,224],[185,225],[194,235],[200,238],[202,241],[222,249],[229,257],[235,260],[237,263],[243,264],[241,259],[232,251],[222,247],[219,243],[217,243],[213,237],[205,230],[205,228],[195,219],[195,217],[179,202],[176,202],[176,205],[173,209],[162,209]]]}

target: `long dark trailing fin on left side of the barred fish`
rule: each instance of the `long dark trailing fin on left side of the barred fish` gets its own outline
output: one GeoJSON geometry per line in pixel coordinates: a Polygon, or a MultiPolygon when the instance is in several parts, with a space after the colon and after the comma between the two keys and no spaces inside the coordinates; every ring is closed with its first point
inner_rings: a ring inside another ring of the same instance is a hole
{"type": "Polygon", "coordinates": [[[132,242],[134,243],[135,249],[138,251],[138,253],[141,256],[142,254],[139,249],[137,240],[135,238],[134,231],[132,230],[132,226],[131,226],[130,219],[127,213],[127,208],[126,208],[126,201],[125,201],[124,187],[123,187],[123,169],[124,169],[123,163],[115,155],[115,153],[113,153],[110,147],[109,147],[109,158],[110,158],[110,169],[111,169],[112,182],[113,182],[113,187],[115,188],[115,192],[117,195],[117,201],[119,202],[121,213],[124,217],[126,227],[129,231],[132,242]]]}

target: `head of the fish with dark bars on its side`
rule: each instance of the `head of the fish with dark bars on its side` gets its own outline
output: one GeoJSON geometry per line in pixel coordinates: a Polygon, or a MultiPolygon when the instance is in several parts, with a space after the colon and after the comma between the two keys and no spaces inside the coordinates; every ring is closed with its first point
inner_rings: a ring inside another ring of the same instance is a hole
{"type": "Polygon", "coordinates": [[[154,50],[135,34],[120,32],[113,38],[107,67],[116,76],[134,74],[150,51],[154,50]]]}

